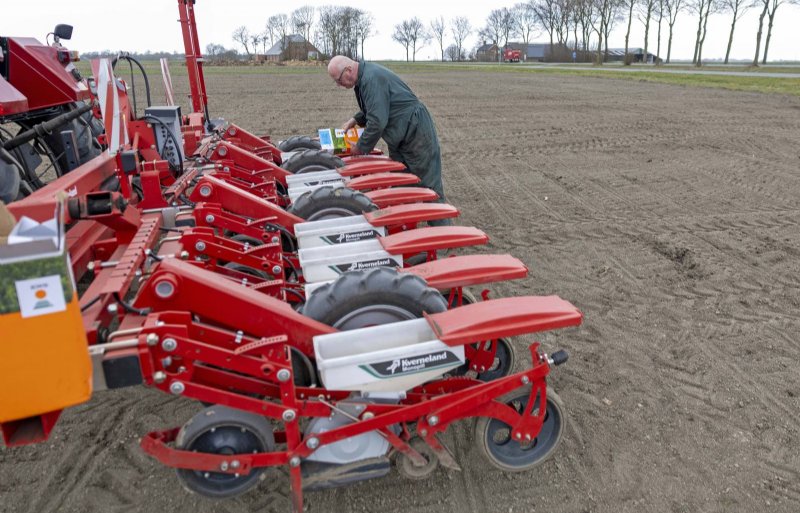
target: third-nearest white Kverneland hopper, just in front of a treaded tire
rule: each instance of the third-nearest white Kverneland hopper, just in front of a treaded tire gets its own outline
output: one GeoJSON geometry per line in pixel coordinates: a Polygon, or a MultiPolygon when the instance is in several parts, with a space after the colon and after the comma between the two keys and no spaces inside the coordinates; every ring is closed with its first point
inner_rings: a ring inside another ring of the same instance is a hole
{"type": "Polygon", "coordinates": [[[372,226],[364,216],[349,216],[296,224],[294,234],[299,248],[308,249],[377,239],[386,228],[372,226]]]}

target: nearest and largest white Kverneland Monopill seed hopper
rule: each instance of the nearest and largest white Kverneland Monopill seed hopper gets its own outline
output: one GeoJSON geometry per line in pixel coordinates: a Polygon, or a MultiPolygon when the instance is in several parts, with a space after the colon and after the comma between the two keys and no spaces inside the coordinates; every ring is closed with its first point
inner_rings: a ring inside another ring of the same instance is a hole
{"type": "Polygon", "coordinates": [[[314,353],[330,390],[402,392],[464,364],[464,346],[438,340],[425,319],[318,335],[314,353]]]}

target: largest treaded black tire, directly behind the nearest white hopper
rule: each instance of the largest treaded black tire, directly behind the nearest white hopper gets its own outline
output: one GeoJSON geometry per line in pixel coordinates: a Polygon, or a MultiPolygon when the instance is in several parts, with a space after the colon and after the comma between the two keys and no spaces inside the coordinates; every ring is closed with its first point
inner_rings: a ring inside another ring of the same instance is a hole
{"type": "Polygon", "coordinates": [[[379,267],[348,271],[323,285],[303,306],[303,315],[347,331],[445,310],[447,301],[422,278],[379,267]]]}

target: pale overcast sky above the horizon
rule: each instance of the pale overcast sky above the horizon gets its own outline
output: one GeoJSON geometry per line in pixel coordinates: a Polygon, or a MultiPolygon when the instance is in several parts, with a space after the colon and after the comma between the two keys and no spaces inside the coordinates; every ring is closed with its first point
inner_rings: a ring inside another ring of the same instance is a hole
{"type": "MultiPolygon", "coordinates": [[[[97,2],[89,0],[5,0],[0,7],[0,35],[29,36],[44,42],[48,32],[57,23],[75,27],[72,40],[65,44],[71,50],[90,52],[99,50],[125,50],[130,52],[183,51],[178,19],[177,0],[134,0],[132,2],[97,2]],[[68,9],[65,9],[68,6],[68,9]]],[[[433,18],[444,16],[446,21],[455,16],[466,16],[472,26],[482,27],[492,9],[511,7],[515,2],[403,0],[402,2],[376,2],[374,0],[348,0],[345,2],[297,1],[274,2],[254,0],[197,0],[195,16],[201,47],[209,43],[227,48],[236,47],[231,34],[244,25],[250,31],[263,31],[267,18],[274,14],[290,14],[302,5],[349,5],[372,13],[377,34],[368,39],[364,57],[373,60],[405,60],[405,49],[391,38],[393,27],[404,19],[418,16],[426,24],[433,18]]],[[[755,34],[758,27],[757,9],[751,9],[737,23],[731,59],[752,60],[755,54],[755,34]]],[[[708,22],[708,36],[703,48],[705,59],[722,59],[730,32],[730,15],[712,15],[708,22]]],[[[800,61],[800,6],[782,5],[778,9],[770,41],[769,60],[800,61]]],[[[612,32],[611,47],[625,46],[626,26],[621,24],[612,32]]],[[[689,12],[681,13],[675,24],[672,59],[691,60],[697,31],[697,19],[689,12]]],[[[649,51],[655,53],[656,29],[651,27],[649,51]]],[[[765,27],[766,34],[766,27],[765,27]]],[[[547,42],[542,33],[534,41],[547,42]]],[[[666,57],[667,27],[662,29],[661,56],[666,57]]],[[[467,46],[479,43],[476,35],[467,40],[467,46]]],[[[447,46],[447,43],[445,44],[447,46]]],[[[631,29],[631,47],[644,46],[644,27],[634,20],[631,29]]],[[[763,46],[763,43],[762,43],[763,46]]],[[[239,47],[241,51],[242,48],[239,47]]],[[[438,59],[437,43],[431,43],[417,53],[417,60],[438,59]]]]}

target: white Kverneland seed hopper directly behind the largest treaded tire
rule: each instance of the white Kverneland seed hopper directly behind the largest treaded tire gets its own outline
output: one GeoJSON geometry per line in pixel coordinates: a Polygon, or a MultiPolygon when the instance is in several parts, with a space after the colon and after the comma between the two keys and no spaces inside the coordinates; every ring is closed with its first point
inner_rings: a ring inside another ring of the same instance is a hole
{"type": "Polygon", "coordinates": [[[403,256],[386,252],[377,239],[301,249],[297,254],[308,283],[335,280],[347,271],[403,267],[403,256]]]}

